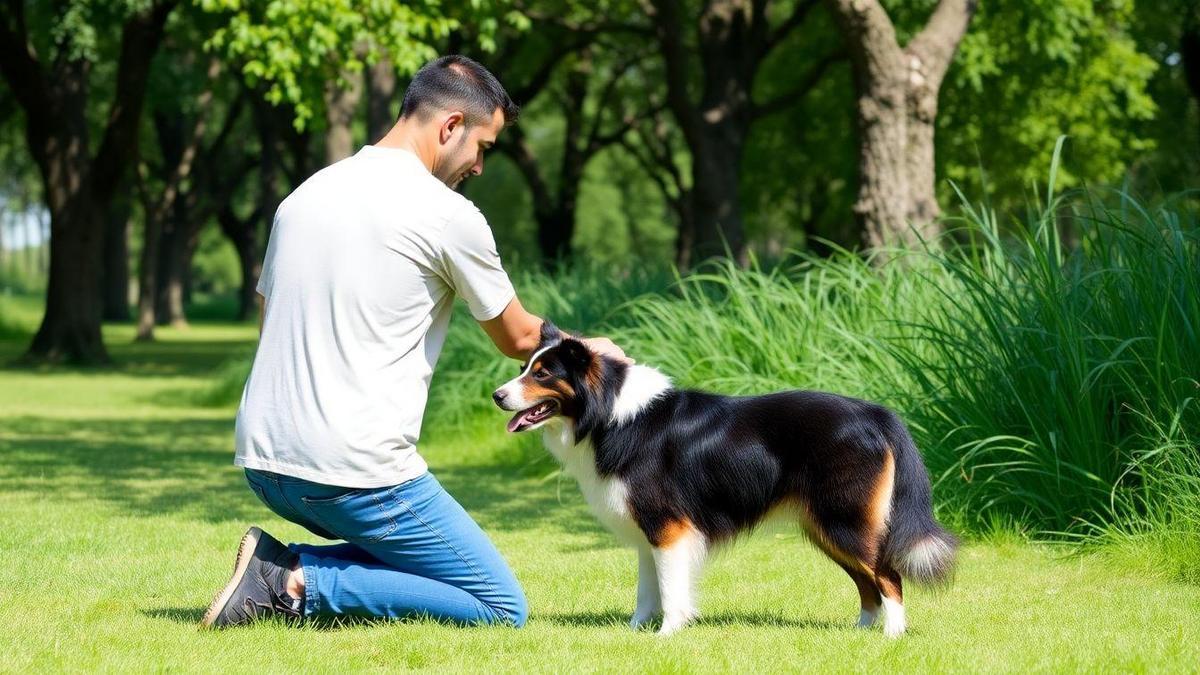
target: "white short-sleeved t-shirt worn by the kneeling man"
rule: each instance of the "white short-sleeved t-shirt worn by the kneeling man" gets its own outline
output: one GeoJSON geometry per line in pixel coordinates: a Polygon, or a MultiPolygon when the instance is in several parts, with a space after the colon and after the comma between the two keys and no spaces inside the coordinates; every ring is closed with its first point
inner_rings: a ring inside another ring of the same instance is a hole
{"type": "Polygon", "coordinates": [[[376,145],[280,204],[258,292],[234,464],[346,488],[425,473],[416,440],[455,295],[479,321],[514,297],[479,209],[376,145]]]}

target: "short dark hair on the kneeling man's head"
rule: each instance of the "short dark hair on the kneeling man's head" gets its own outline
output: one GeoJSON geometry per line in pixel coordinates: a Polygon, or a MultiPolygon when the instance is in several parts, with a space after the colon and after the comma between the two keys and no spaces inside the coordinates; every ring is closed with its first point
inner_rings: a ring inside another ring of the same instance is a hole
{"type": "Polygon", "coordinates": [[[500,80],[478,61],[458,54],[434,59],[416,71],[404,90],[400,117],[433,110],[462,110],[467,126],[490,124],[499,108],[504,124],[516,121],[521,108],[512,102],[500,80]]]}

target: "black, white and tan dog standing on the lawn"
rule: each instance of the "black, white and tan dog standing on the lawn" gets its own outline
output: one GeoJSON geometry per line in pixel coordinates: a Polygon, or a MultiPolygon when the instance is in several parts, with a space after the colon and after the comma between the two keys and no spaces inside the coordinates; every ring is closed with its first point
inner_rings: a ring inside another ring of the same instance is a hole
{"type": "Polygon", "coordinates": [[[948,583],[958,540],[934,519],[929,474],[900,418],[822,392],[722,396],[592,352],[550,322],[493,395],[510,432],[544,429],[590,510],[637,549],[630,627],[696,617],[706,556],[772,515],[798,524],[858,587],[858,626],[905,631],[902,580],[948,583]]]}

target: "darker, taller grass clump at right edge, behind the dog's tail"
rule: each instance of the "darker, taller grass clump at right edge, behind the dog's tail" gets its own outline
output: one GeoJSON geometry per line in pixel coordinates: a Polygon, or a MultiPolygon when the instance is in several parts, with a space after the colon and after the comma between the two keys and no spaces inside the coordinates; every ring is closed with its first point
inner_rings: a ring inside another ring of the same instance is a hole
{"type": "Polygon", "coordinates": [[[931,255],[940,301],[889,347],[966,513],[1070,536],[1200,514],[1177,509],[1200,478],[1200,241],[1181,207],[1080,193],[1003,237],[965,207],[968,244],[931,255]]]}

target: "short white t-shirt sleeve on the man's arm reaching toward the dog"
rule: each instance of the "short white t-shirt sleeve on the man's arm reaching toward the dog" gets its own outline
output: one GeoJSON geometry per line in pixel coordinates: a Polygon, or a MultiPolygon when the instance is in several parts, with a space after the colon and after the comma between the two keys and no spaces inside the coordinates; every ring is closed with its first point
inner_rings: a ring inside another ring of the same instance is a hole
{"type": "Polygon", "coordinates": [[[442,267],[446,283],[467,301],[475,321],[496,318],[516,295],[500,265],[492,228],[474,204],[461,209],[446,223],[442,267]]]}

